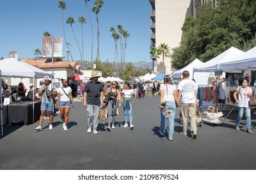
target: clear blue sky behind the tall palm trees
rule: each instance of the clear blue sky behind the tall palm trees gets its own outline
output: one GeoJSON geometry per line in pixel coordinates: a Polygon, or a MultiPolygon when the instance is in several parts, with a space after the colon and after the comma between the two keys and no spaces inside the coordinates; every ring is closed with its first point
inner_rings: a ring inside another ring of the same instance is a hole
{"type": "MultiPolygon", "coordinates": [[[[79,60],[79,51],[69,24],[68,16],[75,20],[75,34],[81,46],[81,24],[77,23],[79,16],[85,17],[84,52],[85,60],[91,61],[91,25],[84,0],[64,0],[67,9],[64,10],[66,40],[72,46],[74,60],[79,60]]],[[[93,8],[94,0],[88,1],[89,9],[93,8]]],[[[110,27],[117,30],[117,25],[130,33],[127,40],[126,62],[151,61],[150,59],[150,17],[148,0],[104,0],[100,10],[100,59],[114,61],[114,40],[110,27]]],[[[9,51],[18,51],[18,58],[35,58],[36,48],[42,50],[42,35],[49,31],[51,35],[63,37],[61,9],[57,0],[44,1],[1,1],[0,3],[0,57],[8,58],[9,51]]],[[[94,29],[94,52],[96,58],[96,16],[91,11],[94,29]]],[[[63,44],[63,56],[67,57],[66,45],[63,44]]],[[[70,59],[70,57],[69,57],[70,59]]]]}

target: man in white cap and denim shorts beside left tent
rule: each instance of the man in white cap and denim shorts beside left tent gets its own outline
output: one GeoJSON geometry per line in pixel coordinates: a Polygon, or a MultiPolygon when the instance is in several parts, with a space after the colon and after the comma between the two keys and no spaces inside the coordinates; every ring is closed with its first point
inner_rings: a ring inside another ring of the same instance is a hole
{"type": "Polygon", "coordinates": [[[49,129],[53,129],[53,95],[57,95],[56,87],[54,84],[50,84],[49,76],[45,76],[45,83],[39,90],[38,94],[41,97],[41,114],[39,119],[39,126],[35,128],[35,130],[41,131],[43,124],[43,117],[45,116],[45,112],[48,111],[50,115],[50,125],[49,129]]]}

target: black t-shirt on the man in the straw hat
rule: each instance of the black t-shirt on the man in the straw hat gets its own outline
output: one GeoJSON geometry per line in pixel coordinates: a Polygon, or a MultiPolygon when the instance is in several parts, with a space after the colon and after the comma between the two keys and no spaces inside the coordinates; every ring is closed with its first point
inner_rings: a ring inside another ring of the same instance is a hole
{"type": "Polygon", "coordinates": [[[85,92],[87,93],[87,104],[100,106],[100,92],[103,92],[101,82],[87,82],[85,92]]]}

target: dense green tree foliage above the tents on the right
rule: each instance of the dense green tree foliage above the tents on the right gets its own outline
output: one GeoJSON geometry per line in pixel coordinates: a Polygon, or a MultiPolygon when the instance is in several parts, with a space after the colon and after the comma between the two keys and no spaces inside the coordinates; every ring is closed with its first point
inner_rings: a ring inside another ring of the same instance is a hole
{"type": "Polygon", "coordinates": [[[184,39],[171,54],[173,69],[196,58],[208,61],[231,46],[251,48],[256,42],[256,1],[219,0],[216,7],[209,1],[200,7],[198,18],[186,18],[182,31],[184,39]]]}

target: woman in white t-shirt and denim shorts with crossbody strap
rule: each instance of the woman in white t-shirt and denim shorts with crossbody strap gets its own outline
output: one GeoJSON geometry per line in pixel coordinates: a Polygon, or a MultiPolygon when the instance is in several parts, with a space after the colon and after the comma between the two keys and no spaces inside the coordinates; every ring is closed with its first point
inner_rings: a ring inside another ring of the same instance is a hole
{"type": "Polygon", "coordinates": [[[63,128],[64,131],[67,131],[68,114],[70,112],[70,108],[74,107],[74,103],[72,89],[68,86],[68,82],[65,79],[62,79],[62,87],[57,90],[56,107],[60,109],[60,116],[64,122],[63,128]]]}

